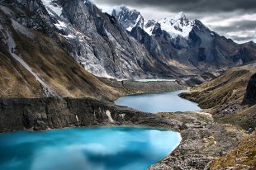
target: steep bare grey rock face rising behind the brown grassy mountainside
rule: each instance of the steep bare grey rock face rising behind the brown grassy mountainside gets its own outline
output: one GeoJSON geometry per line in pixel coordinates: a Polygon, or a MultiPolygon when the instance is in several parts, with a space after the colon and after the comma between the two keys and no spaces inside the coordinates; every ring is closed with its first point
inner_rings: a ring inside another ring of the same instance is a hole
{"type": "Polygon", "coordinates": [[[61,7],[60,16],[54,8],[49,13],[59,35],[68,41],[65,49],[94,75],[113,78],[175,75],[166,64],[152,58],[115,17],[102,13],[92,2],[51,3],[61,7]]]}

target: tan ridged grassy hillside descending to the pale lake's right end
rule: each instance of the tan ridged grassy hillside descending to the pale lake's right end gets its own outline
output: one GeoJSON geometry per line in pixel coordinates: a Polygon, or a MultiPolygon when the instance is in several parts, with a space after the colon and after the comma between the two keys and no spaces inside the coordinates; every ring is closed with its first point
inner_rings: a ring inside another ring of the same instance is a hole
{"type": "Polygon", "coordinates": [[[256,72],[256,64],[231,68],[220,77],[192,88],[182,97],[198,102],[204,109],[220,106],[234,100],[242,101],[249,78],[256,72]]]}

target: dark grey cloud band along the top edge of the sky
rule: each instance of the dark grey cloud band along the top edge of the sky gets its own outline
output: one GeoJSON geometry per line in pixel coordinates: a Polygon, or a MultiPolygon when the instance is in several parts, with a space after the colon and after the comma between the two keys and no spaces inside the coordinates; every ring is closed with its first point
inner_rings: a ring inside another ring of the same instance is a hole
{"type": "Polygon", "coordinates": [[[255,0],[95,0],[108,5],[126,4],[132,7],[157,7],[169,12],[232,12],[256,11],[255,0]]]}

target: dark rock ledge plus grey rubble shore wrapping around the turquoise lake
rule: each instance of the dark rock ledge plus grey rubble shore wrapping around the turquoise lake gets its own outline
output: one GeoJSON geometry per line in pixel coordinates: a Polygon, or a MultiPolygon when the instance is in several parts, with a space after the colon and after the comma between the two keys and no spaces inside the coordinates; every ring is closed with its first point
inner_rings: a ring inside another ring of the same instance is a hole
{"type": "Polygon", "coordinates": [[[0,99],[0,132],[75,126],[143,125],[177,130],[177,149],[149,169],[205,169],[233,149],[243,133],[195,112],[149,114],[89,98],[0,99]]]}

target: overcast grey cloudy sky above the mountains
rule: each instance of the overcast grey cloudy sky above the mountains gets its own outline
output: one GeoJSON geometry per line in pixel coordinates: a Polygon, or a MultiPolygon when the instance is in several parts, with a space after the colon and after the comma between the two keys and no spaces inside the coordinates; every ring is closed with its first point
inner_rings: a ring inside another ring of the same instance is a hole
{"type": "Polygon", "coordinates": [[[161,20],[183,11],[212,31],[242,43],[256,42],[256,0],[93,0],[97,7],[126,5],[145,19],[161,20]]]}

